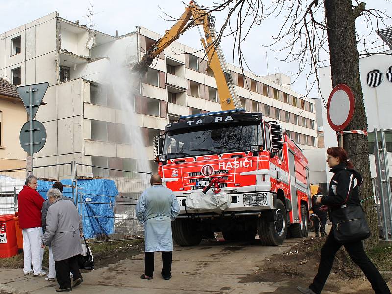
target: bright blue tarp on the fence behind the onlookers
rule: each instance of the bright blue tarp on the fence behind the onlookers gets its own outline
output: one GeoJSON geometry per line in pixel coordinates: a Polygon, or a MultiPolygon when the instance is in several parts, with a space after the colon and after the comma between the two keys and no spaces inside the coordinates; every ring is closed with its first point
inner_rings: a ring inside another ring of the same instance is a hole
{"type": "MultiPolygon", "coordinates": [[[[63,195],[73,198],[76,202],[76,189],[72,195],[72,181],[61,180],[61,183],[64,185],[63,195]]],[[[37,191],[46,199],[46,193],[52,186],[53,182],[39,180],[37,191]]],[[[94,238],[114,234],[114,204],[118,195],[115,182],[106,179],[77,180],[77,193],[85,237],[94,238]]]]}

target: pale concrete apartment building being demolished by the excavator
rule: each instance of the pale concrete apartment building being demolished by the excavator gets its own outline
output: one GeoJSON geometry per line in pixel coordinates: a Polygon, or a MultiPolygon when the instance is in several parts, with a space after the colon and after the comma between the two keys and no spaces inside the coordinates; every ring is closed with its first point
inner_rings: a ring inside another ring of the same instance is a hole
{"type": "MultiPolygon", "coordinates": [[[[112,65],[128,70],[160,37],[143,27],[110,36],[62,19],[57,12],[0,34],[0,76],[14,85],[49,82],[47,105],[35,118],[44,124],[47,142],[34,154],[35,165],[73,160],[136,170],[143,153],[130,132],[134,128],[129,125],[136,124],[154,170],[152,141],[168,122],[221,110],[204,54],[178,42],[153,62],[140,95],[129,95],[125,87],[129,80],[119,83],[112,65]],[[108,76],[115,81],[108,81],[108,76]]],[[[317,147],[314,102],[284,86],[290,77],[281,73],[257,77],[249,72],[244,76],[240,68],[228,67],[247,111],[280,120],[301,148],[317,147]]]]}

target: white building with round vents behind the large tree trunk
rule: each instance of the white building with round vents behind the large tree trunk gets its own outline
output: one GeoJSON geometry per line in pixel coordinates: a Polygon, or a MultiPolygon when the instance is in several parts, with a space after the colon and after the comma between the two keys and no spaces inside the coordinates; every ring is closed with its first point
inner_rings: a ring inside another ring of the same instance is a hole
{"type": "MultiPolygon", "coordinates": [[[[384,52],[392,54],[392,29],[378,31],[380,37],[388,44],[390,50],[384,52]]],[[[364,96],[365,112],[368,120],[369,154],[371,176],[376,177],[374,161],[374,129],[386,130],[386,147],[389,161],[389,173],[392,175],[392,56],[375,54],[359,59],[362,92],[364,96]]],[[[328,99],[332,91],[331,68],[322,67],[319,70],[320,91],[328,99]]],[[[323,113],[326,110],[323,109],[323,113]]],[[[326,115],[323,115],[325,147],[337,146],[335,131],[329,126],[326,115]]],[[[379,139],[380,140],[380,139],[379,139]]],[[[327,169],[328,171],[328,169],[327,169]]],[[[327,172],[328,174],[328,172],[327,172]]],[[[328,175],[327,175],[328,177],[328,175]]],[[[328,177],[328,180],[331,176],[328,177]]],[[[392,178],[390,178],[392,181],[392,178]]]]}

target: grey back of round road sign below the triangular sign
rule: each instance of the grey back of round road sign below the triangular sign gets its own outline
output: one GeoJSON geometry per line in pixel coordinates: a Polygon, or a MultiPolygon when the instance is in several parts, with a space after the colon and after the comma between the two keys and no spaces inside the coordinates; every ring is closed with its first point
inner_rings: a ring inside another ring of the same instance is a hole
{"type": "MultiPolygon", "coordinates": [[[[19,142],[23,150],[30,153],[30,122],[25,123],[19,133],[19,142]]],[[[33,120],[33,153],[41,150],[46,142],[46,130],[41,122],[33,120]]]]}

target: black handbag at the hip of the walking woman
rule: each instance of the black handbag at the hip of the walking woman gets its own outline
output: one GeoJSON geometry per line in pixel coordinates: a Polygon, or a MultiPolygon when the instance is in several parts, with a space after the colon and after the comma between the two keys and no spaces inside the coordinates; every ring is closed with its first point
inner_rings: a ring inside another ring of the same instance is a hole
{"type": "Polygon", "coordinates": [[[331,212],[334,238],[339,243],[349,243],[370,237],[371,232],[360,205],[346,206],[331,212]]]}

